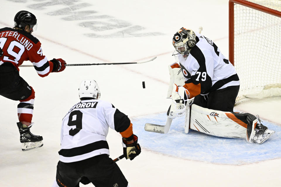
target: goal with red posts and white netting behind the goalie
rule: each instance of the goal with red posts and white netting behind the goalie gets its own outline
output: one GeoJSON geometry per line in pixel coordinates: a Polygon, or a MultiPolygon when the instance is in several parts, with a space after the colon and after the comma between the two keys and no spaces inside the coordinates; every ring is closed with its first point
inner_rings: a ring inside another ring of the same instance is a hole
{"type": "Polygon", "coordinates": [[[280,11],[281,0],[229,0],[229,60],[240,79],[236,104],[281,96],[280,11]]]}

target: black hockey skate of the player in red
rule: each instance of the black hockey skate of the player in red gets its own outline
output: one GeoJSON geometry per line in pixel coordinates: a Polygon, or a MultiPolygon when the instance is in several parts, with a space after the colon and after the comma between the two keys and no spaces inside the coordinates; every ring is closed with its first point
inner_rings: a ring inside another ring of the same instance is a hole
{"type": "Polygon", "coordinates": [[[27,151],[30,149],[35,149],[43,146],[43,137],[34,135],[30,132],[30,127],[23,127],[21,122],[17,123],[18,130],[20,131],[20,143],[22,143],[22,150],[27,151]]]}

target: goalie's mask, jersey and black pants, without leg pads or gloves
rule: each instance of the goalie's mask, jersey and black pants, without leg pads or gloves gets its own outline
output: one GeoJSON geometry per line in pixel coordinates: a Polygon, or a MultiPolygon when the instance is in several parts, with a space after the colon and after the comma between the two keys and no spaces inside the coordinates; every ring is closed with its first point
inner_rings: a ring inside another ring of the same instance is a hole
{"type": "Polygon", "coordinates": [[[186,96],[195,97],[194,103],[201,107],[233,112],[239,77],[215,43],[184,27],[172,43],[185,78],[186,96]]]}

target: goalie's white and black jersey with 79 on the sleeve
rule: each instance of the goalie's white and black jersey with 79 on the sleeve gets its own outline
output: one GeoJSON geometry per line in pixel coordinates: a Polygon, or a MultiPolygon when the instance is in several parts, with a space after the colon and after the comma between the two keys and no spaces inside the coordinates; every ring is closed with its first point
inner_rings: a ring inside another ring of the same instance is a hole
{"type": "Polygon", "coordinates": [[[190,98],[240,85],[234,66],[215,43],[199,33],[196,33],[196,41],[186,59],[181,54],[176,56],[185,78],[183,86],[190,92],[190,98]]]}

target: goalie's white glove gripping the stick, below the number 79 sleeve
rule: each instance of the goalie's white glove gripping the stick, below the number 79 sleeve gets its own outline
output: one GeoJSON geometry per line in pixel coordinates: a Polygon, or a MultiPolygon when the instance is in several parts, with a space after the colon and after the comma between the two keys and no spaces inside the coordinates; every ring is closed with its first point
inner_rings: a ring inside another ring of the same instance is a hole
{"type": "Polygon", "coordinates": [[[168,109],[167,116],[174,119],[185,115],[186,103],[190,98],[189,91],[183,86],[173,85],[172,103],[168,109]]]}

